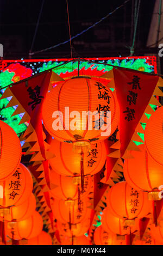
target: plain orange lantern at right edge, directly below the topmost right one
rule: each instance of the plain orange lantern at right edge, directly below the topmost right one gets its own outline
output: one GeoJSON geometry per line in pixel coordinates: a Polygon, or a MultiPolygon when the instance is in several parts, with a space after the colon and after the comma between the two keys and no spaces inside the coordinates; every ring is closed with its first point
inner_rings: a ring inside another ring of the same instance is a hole
{"type": "Polygon", "coordinates": [[[140,151],[130,151],[134,157],[124,161],[124,178],[137,190],[154,191],[163,185],[163,166],[147,154],[145,145],[139,145],[140,151]]]}

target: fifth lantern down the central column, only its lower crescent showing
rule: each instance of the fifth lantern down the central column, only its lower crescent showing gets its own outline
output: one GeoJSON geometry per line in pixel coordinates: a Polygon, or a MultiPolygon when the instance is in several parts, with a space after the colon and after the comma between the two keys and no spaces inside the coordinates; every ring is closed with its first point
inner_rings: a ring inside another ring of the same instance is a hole
{"type": "Polygon", "coordinates": [[[80,223],[72,224],[71,230],[70,225],[68,223],[61,223],[57,221],[57,229],[59,230],[59,233],[65,236],[81,236],[87,233],[87,230],[89,230],[90,227],[90,219],[84,220],[80,223]]]}

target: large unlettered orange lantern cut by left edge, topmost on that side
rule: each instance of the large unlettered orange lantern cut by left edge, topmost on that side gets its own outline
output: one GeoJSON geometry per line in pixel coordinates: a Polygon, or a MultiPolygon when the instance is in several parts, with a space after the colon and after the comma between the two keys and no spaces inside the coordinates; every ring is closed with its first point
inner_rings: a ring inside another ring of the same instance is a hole
{"type": "Polygon", "coordinates": [[[16,171],[21,161],[21,144],[16,132],[0,120],[0,181],[16,171]]]}

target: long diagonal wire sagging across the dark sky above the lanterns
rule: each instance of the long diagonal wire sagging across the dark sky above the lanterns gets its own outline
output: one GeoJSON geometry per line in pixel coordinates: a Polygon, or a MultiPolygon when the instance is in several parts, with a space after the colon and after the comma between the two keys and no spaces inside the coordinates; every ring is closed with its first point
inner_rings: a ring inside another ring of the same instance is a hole
{"type": "Polygon", "coordinates": [[[121,7],[123,7],[123,6],[124,6],[124,4],[127,4],[129,1],[130,1],[130,0],[126,0],[126,1],[124,1],[124,3],[123,3],[123,4],[121,4],[120,6],[118,6],[117,8],[115,8],[115,10],[111,11],[109,14],[107,14],[106,16],[104,16],[101,20],[99,20],[99,21],[95,22],[92,26],[90,26],[90,27],[86,28],[84,31],[82,31],[82,32],[80,32],[80,33],[78,33],[78,34],[76,34],[76,35],[72,36],[72,38],[71,38],[71,39],[66,40],[66,41],[64,41],[64,42],[60,42],[60,43],[59,43],[59,44],[57,44],[57,45],[54,45],[54,46],[51,46],[51,47],[45,48],[45,49],[40,50],[40,51],[30,52],[30,53],[29,53],[29,55],[34,55],[35,53],[45,52],[45,51],[47,51],[47,50],[51,50],[51,49],[53,49],[53,48],[56,48],[56,47],[58,47],[58,46],[60,46],[60,45],[67,44],[67,42],[70,42],[70,40],[72,40],[72,39],[74,39],[74,38],[77,38],[79,35],[84,34],[85,32],[89,31],[89,29],[91,29],[91,28],[95,27],[96,25],[98,25],[99,23],[101,23],[103,20],[105,20],[106,18],[108,18],[110,15],[114,14],[118,9],[120,9],[121,7]]]}

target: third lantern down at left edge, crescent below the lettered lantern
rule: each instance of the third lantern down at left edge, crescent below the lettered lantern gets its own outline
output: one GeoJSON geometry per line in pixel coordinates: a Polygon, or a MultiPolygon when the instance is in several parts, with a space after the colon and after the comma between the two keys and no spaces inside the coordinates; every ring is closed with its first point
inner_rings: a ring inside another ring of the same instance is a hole
{"type": "Polygon", "coordinates": [[[34,194],[31,194],[30,197],[23,203],[18,206],[12,206],[7,214],[5,214],[7,209],[0,209],[1,218],[0,220],[3,221],[22,221],[29,218],[36,209],[36,199],[34,194]]]}

